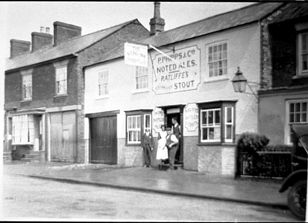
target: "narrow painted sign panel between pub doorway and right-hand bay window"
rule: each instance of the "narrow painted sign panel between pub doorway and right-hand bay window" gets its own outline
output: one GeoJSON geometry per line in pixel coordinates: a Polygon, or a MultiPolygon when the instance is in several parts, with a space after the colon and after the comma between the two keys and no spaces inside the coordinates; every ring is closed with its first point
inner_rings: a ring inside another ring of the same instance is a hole
{"type": "Polygon", "coordinates": [[[198,127],[199,109],[197,104],[190,103],[184,108],[184,127],[187,131],[195,132],[198,127]]]}

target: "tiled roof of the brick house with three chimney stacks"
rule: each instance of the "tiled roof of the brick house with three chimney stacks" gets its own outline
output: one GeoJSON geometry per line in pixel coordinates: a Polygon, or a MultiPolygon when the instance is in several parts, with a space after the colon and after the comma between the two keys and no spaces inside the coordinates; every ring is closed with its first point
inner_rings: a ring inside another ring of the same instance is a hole
{"type": "Polygon", "coordinates": [[[51,45],[42,48],[41,50],[18,55],[13,59],[6,59],[6,70],[26,67],[29,65],[38,64],[45,61],[66,57],[74,53],[78,53],[83,49],[87,48],[88,46],[91,46],[92,44],[106,38],[108,35],[130,23],[140,24],[137,19],[134,19],[132,21],[128,21],[117,26],[73,38],[56,47],[53,47],[53,45],[51,45]]]}

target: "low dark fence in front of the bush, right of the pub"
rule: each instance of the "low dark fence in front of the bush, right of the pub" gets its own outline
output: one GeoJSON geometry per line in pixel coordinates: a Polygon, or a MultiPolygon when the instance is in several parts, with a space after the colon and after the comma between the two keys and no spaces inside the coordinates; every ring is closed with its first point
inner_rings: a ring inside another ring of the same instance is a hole
{"type": "Polygon", "coordinates": [[[238,176],[285,178],[291,173],[291,152],[239,152],[238,176]]]}

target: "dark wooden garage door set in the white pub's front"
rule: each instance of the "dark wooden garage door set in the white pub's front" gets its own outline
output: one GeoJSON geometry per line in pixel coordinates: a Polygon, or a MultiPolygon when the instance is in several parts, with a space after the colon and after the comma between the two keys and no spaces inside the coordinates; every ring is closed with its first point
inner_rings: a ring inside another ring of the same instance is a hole
{"type": "Polygon", "coordinates": [[[117,116],[90,119],[91,162],[117,164],[117,116]]]}

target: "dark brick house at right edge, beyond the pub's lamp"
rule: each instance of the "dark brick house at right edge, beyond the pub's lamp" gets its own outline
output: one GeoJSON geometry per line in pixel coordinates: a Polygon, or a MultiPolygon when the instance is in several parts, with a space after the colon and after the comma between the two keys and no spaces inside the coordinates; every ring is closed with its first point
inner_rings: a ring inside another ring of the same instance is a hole
{"type": "Polygon", "coordinates": [[[269,143],[291,144],[292,124],[308,128],[308,4],[288,3],[279,11],[263,29],[268,87],[259,91],[258,131],[269,143]]]}

